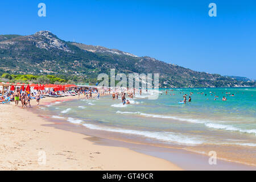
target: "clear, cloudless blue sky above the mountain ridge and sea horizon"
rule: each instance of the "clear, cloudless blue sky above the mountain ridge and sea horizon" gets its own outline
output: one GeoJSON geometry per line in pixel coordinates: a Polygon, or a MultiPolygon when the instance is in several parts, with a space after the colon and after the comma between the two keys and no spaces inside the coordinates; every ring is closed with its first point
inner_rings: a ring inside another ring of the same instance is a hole
{"type": "Polygon", "coordinates": [[[63,40],[256,79],[255,0],[5,0],[0,19],[0,34],[49,30],[63,40]],[[38,16],[40,2],[46,17],[38,16]],[[208,15],[211,2],[217,17],[208,15]]]}

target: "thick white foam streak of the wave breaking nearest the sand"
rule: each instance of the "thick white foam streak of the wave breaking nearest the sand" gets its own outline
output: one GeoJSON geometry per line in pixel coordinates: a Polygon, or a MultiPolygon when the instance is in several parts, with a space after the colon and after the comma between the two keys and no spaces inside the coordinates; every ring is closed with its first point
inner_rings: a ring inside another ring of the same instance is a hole
{"type": "Polygon", "coordinates": [[[127,130],[127,129],[118,129],[112,127],[100,127],[97,125],[92,125],[88,123],[82,124],[85,127],[93,130],[104,130],[117,133],[125,133],[132,135],[140,135],[142,137],[152,138],[161,140],[164,142],[174,142],[177,144],[201,144],[203,141],[197,137],[188,137],[177,133],[172,132],[157,132],[157,131],[138,131],[138,130],[127,130]]]}

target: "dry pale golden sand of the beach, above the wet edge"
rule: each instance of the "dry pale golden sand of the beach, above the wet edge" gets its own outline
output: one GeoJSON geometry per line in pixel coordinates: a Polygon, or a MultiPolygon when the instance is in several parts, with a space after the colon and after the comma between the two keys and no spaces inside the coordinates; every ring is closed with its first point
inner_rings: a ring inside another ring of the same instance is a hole
{"type": "MultiPolygon", "coordinates": [[[[40,104],[54,100],[61,99],[43,98],[40,104]]],[[[36,107],[35,100],[31,106],[36,107]]],[[[0,111],[0,170],[181,170],[164,159],[99,146],[87,140],[89,136],[43,126],[49,122],[20,103],[0,105],[0,111]]]]}

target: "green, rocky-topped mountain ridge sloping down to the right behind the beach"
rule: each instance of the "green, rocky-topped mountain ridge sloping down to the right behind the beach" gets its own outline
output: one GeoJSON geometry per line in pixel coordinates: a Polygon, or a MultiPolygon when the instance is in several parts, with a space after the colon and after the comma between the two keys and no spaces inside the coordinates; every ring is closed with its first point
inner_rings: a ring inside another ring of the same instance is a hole
{"type": "Polygon", "coordinates": [[[0,35],[0,71],[14,74],[58,75],[80,82],[97,82],[99,73],[160,73],[161,87],[255,86],[254,81],[192,71],[148,56],[118,49],[66,42],[50,31],[32,35],[0,35]]]}

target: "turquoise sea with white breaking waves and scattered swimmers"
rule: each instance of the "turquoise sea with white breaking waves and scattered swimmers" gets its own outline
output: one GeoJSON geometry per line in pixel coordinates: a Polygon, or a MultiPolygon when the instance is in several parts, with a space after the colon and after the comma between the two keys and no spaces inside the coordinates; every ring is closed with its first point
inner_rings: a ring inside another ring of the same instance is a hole
{"type": "MultiPolygon", "coordinates": [[[[200,146],[247,147],[245,160],[255,157],[256,88],[160,89],[157,100],[148,100],[150,95],[136,94],[125,106],[120,99],[104,96],[100,100],[53,102],[41,109],[51,111],[56,119],[147,143],[193,150],[200,146]],[[179,104],[184,94],[192,101],[179,104]],[[227,101],[222,101],[223,96],[227,101]]],[[[254,163],[255,158],[250,161],[254,163]]]]}

